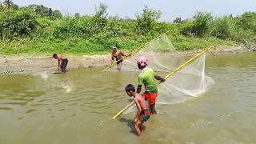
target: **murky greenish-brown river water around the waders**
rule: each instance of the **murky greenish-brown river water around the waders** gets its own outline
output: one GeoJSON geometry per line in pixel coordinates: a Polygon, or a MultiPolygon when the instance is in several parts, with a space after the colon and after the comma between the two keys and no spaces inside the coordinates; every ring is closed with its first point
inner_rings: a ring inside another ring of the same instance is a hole
{"type": "Polygon", "coordinates": [[[134,114],[111,120],[129,102],[123,87],[138,74],[100,70],[0,76],[0,143],[256,142],[256,53],[206,57],[214,86],[157,106],[160,114],[141,138],[132,129],[134,114]]]}

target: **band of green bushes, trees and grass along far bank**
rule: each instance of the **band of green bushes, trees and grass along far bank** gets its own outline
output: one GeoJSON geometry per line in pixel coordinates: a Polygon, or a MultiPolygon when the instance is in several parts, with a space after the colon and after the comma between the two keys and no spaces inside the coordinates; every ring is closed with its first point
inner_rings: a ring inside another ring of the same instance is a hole
{"type": "Polygon", "coordinates": [[[158,22],[159,10],[145,6],[136,19],[107,14],[100,4],[93,15],[62,15],[46,6],[19,7],[10,0],[0,4],[0,53],[98,54],[117,46],[134,50],[168,30],[178,50],[194,50],[212,44],[233,45],[255,42],[256,13],[214,17],[198,12],[193,18],[158,22]]]}

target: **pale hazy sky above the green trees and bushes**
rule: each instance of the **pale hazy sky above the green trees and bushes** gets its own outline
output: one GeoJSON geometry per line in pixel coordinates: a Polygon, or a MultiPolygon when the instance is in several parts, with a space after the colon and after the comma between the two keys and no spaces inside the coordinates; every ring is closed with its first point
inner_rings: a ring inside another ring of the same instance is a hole
{"type": "Polygon", "coordinates": [[[191,18],[197,11],[206,11],[214,16],[238,15],[245,11],[256,11],[256,0],[13,0],[18,6],[42,4],[62,14],[94,14],[95,6],[104,3],[108,14],[124,18],[136,18],[144,6],[161,10],[160,21],[172,22],[174,18],[191,18]]]}

